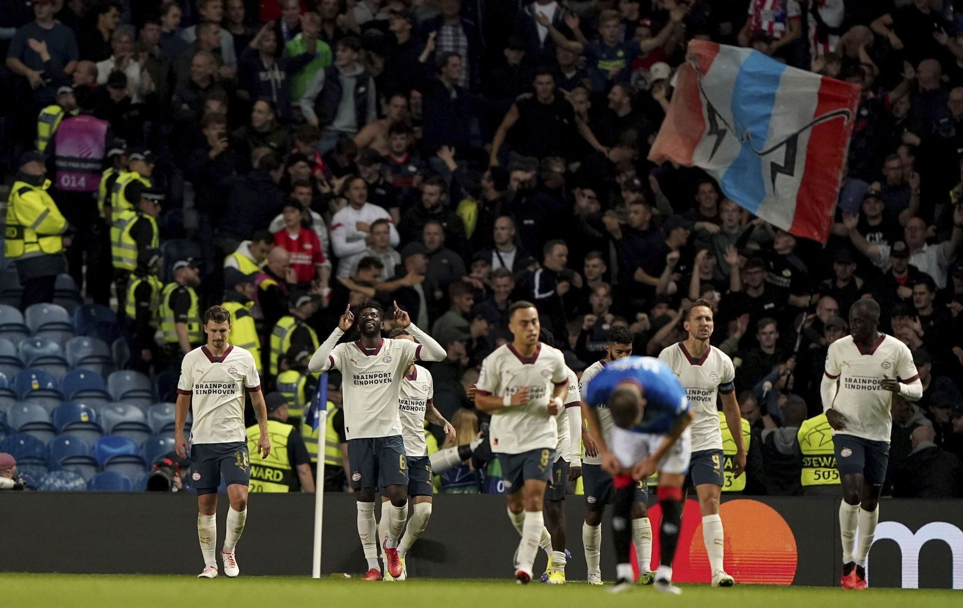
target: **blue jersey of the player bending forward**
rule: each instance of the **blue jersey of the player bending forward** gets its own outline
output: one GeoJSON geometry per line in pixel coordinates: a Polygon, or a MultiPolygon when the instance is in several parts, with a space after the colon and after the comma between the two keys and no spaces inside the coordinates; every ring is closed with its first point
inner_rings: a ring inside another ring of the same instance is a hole
{"type": "MultiPolygon", "coordinates": [[[[606,403],[620,383],[637,383],[645,397],[645,411],[633,433],[668,433],[687,411],[689,398],[668,365],[655,357],[625,357],[606,364],[586,385],[585,401],[592,408],[606,403]]],[[[718,424],[716,418],[716,424],[718,424]]]]}

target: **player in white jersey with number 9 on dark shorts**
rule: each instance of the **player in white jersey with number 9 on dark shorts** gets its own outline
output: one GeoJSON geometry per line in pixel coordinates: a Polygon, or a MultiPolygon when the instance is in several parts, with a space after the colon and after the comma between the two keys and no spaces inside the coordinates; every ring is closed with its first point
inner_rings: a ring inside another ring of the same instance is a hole
{"type": "Polygon", "coordinates": [[[736,441],[733,473],[742,475],[745,468],[745,445],[742,442],[742,415],[736,401],[736,368],[732,359],[709,344],[713,335],[713,304],[696,300],[686,310],[684,327],[689,331],[685,342],[673,344],[659,354],[689,395],[692,411],[692,458],[689,483],[695,487],[702,513],[702,542],[709,554],[713,587],[732,587],[735,580],[722,568],[722,519],[719,517],[719,494],[725,484],[723,473],[722,433],[719,431],[716,394],[722,396],[726,424],[736,441]]]}

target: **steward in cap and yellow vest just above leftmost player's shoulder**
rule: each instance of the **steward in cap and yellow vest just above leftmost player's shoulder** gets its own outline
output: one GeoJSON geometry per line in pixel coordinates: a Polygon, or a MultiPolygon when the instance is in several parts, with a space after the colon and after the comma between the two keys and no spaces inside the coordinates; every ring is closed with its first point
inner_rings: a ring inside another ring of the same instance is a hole
{"type": "Polygon", "coordinates": [[[177,260],[171,270],[174,280],[161,292],[161,332],[171,367],[180,369],[181,359],[204,343],[194,290],[200,275],[193,258],[177,260]]]}

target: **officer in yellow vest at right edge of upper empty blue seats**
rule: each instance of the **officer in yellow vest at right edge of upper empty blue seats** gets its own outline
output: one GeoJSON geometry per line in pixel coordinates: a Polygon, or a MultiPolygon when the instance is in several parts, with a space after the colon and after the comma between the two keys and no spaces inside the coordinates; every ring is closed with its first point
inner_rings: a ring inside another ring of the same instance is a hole
{"type": "Polygon", "coordinates": [[[161,292],[164,284],[157,278],[157,271],[163,261],[159,249],[148,248],[138,253],[137,268],[130,276],[125,298],[127,335],[133,343],[131,350],[138,369],[144,373],[158,355],[154,334],[161,325],[161,292]]]}

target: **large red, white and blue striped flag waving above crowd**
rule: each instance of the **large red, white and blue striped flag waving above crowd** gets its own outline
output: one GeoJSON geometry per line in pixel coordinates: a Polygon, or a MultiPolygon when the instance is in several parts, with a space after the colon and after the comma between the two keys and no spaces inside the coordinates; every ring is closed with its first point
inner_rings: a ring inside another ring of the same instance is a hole
{"type": "Polygon", "coordinates": [[[751,213],[825,242],[858,102],[857,85],[692,40],[649,160],[701,167],[751,213]]]}

